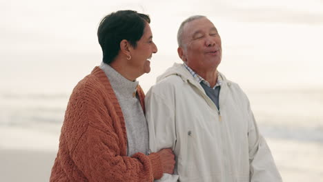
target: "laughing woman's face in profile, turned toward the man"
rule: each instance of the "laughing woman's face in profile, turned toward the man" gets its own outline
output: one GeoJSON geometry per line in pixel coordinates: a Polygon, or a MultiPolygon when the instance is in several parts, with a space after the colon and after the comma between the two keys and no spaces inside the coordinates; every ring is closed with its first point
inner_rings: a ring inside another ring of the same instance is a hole
{"type": "Polygon", "coordinates": [[[131,57],[128,63],[140,74],[150,72],[150,59],[153,53],[157,52],[157,46],[153,42],[153,34],[150,26],[146,23],[144,34],[137,41],[137,47],[131,48],[131,57]]]}

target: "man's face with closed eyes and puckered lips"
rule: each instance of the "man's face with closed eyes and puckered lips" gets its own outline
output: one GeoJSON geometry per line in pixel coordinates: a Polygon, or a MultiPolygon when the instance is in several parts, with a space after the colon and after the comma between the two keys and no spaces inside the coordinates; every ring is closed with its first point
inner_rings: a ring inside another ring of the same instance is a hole
{"type": "Polygon", "coordinates": [[[216,70],[222,59],[221,37],[211,21],[195,19],[185,24],[178,52],[197,73],[216,70]]]}

